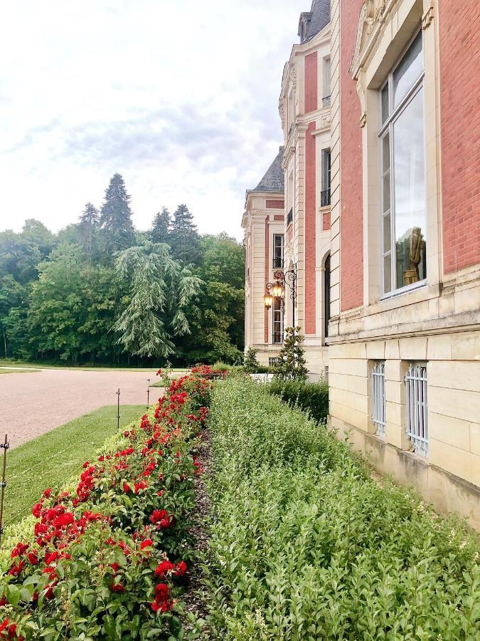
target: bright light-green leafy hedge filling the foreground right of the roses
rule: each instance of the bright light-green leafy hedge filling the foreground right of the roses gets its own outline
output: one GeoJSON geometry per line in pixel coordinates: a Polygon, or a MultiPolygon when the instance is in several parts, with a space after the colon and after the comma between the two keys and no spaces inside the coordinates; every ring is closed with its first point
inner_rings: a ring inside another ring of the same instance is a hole
{"type": "Polygon", "coordinates": [[[478,546],[255,382],[218,384],[204,568],[213,637],[478,639],[478,546]]]}

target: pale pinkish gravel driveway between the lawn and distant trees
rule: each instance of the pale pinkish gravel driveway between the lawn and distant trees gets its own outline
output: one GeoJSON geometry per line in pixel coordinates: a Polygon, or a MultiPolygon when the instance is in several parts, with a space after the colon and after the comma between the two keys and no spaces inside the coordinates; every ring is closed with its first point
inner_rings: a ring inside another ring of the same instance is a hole
{"type": "MultiPolygon", "coordinates": [[[[9,435],[11,447],[87,414],[102,405],[146,407],[147,378],[151,372],[84,372],[81,370],[41,370],[40,372],[0,375],[0,439],[9,435]]],[[[150,402],[161,395],[161,388],[150,389],[150,402]]]]}

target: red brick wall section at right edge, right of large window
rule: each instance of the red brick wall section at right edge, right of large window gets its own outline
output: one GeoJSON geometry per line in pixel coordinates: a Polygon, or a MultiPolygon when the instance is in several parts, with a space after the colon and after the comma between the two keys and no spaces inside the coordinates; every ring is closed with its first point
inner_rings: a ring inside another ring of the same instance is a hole
{"type": "Polygon", "coordinates": [[[439,0],[443,264],[480,262],[478,0],[439,0]]]}

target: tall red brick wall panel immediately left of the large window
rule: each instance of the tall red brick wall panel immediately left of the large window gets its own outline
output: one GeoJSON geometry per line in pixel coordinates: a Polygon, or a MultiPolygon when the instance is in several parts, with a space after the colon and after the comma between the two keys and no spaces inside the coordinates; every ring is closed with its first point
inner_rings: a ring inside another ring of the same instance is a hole
{"type": "Polygon", "coordinates": [[[360,101],[348,71],[363,0],[341,0],[340,60],[340,302],[341,310],[363,303],[363,199],[360,101]]]}

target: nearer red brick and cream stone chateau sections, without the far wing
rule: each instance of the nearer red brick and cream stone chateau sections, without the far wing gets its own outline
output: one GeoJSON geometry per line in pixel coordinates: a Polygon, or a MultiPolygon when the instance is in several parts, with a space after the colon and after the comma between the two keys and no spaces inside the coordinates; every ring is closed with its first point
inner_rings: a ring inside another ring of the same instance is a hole
{"type": "Polygon", "coordinates": [[[474,0],[314,0],[279,101],[281,306],[331,426],[476,528],[479,24],[474,0]]]}

